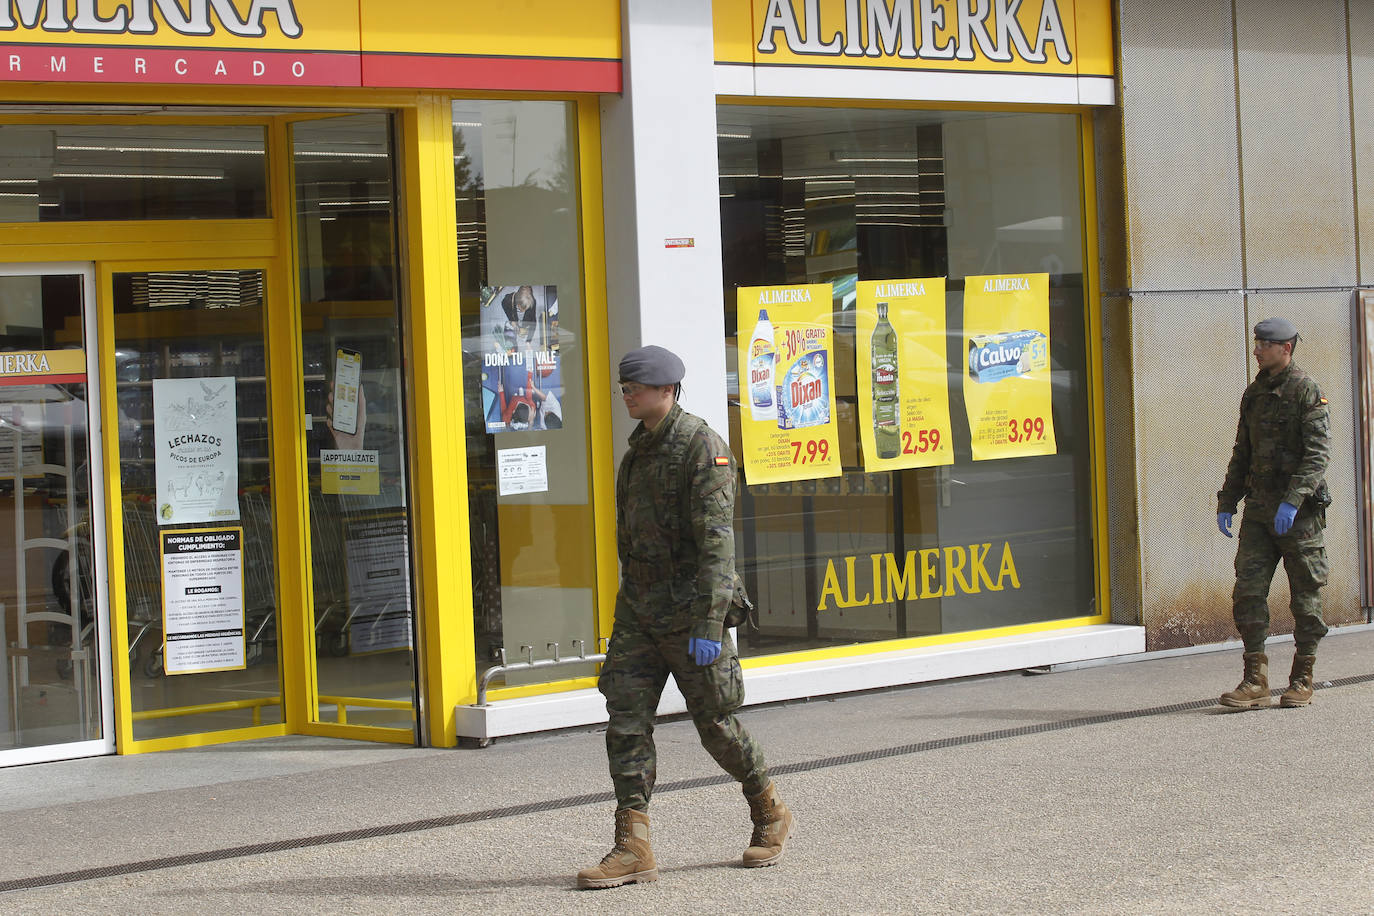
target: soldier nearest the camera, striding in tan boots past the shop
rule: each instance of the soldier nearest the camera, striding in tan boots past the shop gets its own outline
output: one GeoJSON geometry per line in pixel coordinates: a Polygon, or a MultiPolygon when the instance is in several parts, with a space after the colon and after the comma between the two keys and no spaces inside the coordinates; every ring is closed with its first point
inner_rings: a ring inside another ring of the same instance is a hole
{"type": "Polygon", "coordinates": [[[621,586],[599,681],[610,715],[616,846],[578,872],[578,887],[658,878],[649,799],[657,776],[654,714],[669,674],[702,746],[743,787],[754,823],[745,867],[776,862],[791,831],[763,751],[734,714],[745,696],[725,632],[738,585],[735,460],[705,420],[677,405],[684,374],[682,360],[658,346],[631,350],[620,364],[625,408],[640,423],[616,479],[621,586]]]}

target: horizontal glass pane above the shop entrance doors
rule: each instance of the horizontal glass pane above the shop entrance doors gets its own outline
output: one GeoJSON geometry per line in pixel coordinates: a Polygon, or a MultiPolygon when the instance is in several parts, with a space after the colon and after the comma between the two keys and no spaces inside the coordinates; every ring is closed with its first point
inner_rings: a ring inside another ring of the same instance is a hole
{"type": "Polygon", "coordinates": [[[0,222],[265,218],[256,125],[0,125],[0,222]]]}

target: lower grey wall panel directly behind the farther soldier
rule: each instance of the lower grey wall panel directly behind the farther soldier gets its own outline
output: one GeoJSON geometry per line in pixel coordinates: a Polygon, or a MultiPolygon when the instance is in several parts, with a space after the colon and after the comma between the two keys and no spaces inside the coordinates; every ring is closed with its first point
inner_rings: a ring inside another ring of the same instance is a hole
{"type": "MultiPolygon", "coordinates": [[[[1322,589],[1326,622],[1363,623],[1360,608],[1360,534],[1355,486],[1358,404],[1351,404],[1351,297],[1348,293],[1267,293],[1250,297],[1248,321],[1281,314],[1297,325],[1303,341],[1294,360],[1322,386],[1331,412],[1331,464],[1326,481],[1334,499],[1326,511],[1326,553],[1330,581],[1322,589]]],[[[1253,360],[1252,360],[1253,371],[1253,360]]],[[[1293,632],[1287,612],[1287,581],[1279,573],[1270,592],[1275,632],[1293,632]]]]}

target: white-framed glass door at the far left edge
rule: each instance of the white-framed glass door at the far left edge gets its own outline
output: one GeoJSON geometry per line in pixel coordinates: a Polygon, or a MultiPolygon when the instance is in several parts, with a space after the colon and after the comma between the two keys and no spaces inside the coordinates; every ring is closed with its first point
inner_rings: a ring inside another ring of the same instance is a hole
{"type": "Polygon", "coordinates": [[[0,266],[0,766],[114,750],[92,288],[0,266]]]}

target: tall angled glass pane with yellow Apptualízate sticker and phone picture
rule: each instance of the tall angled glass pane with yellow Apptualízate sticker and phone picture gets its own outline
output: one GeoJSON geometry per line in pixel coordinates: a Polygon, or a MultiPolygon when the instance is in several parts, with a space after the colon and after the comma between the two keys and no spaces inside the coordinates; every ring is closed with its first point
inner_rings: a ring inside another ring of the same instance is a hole
{"type": "Polygon", "coordinates": [[[415,729],[396,179],[386,114],[291,129],[320,721],[415,729]]]}

